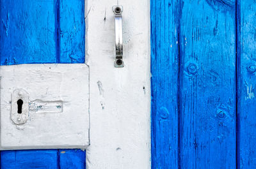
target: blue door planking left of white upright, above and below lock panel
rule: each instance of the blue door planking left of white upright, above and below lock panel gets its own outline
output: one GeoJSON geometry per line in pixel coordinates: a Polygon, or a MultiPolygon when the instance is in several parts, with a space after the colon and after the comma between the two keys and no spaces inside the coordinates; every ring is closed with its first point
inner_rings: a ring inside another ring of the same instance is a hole
{"type": "MultiPolygon", "coordinates": [[[[0,65],[84,62],[84,1],[1,0],[0,9],[0,65]]],[[[1,151],[1,168],[85,168],[85,152],[1,151]]]]}

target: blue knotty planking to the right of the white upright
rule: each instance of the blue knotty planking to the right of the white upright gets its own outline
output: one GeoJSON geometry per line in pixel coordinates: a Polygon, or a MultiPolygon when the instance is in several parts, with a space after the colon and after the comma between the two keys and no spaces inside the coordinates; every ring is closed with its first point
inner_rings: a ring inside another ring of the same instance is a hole
{"type": "Polygon", "coordinates": [[[152,0],[152,168],[256,168],[256,2],[152,0]]]}

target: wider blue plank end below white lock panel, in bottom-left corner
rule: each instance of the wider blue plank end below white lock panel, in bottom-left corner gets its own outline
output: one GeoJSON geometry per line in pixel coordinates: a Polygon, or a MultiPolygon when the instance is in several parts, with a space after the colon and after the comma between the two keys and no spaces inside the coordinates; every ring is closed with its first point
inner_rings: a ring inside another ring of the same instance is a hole
{"type": "Polygon", "coordinates": [[[1,169],[58,169],[58,150],[1,151],[1,169]]]}

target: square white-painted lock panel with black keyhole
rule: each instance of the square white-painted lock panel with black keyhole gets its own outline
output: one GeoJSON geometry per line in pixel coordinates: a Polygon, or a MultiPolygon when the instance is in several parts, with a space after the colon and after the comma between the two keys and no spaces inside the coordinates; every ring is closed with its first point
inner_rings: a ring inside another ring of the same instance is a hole
{"type": "Polygon", "coordinates": [[[88,147],[86,64],[0,66],[0,77],[0,149],[88,147]],[[18,99],[23,99],[22,114],[17,113],[18,99]]]}

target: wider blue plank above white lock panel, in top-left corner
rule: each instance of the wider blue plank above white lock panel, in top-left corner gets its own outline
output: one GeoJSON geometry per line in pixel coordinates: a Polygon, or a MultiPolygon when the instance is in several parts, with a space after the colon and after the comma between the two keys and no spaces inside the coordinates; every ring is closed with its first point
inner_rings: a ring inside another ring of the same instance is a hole
{"type": "Polygon", "coordinates": [[[0,64],[56,62],[56,0],[0,2],[0,64]]]}

